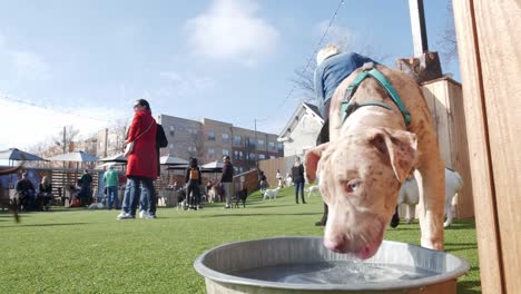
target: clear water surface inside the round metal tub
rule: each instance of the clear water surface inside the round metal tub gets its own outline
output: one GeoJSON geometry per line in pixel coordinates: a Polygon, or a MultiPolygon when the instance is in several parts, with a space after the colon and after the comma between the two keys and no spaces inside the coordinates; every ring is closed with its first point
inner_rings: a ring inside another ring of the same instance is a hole
{"type": "Polygon", "coordinates": [[[438,273],[419,267],[356,261],[276,265],[230,273],[235,276],[293,284],[353,284],[416,280],[438,273]]]}

